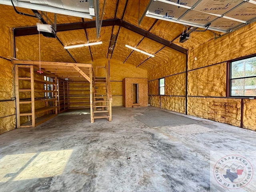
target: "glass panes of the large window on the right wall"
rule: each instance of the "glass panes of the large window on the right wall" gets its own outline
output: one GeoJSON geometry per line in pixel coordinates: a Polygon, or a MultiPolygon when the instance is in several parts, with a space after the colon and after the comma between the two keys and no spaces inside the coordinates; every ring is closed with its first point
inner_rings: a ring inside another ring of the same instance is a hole
{"type": "Polygon", "coordinates": [[[230,63],[230,96],[256,96],[256,57],[230,63]]]}

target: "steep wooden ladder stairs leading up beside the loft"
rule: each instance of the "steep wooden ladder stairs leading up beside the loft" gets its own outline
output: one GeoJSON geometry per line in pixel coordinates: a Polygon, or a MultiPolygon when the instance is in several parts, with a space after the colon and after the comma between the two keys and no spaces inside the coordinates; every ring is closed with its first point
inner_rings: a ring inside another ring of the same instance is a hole
{"type": "Polygon", "coordinates": [[[93,121],[99,118],[108,118],[108,121],[111,121],[111,103],[110,80],[106,70],[106,77],[96,76],[94,80],[93,121]]]}

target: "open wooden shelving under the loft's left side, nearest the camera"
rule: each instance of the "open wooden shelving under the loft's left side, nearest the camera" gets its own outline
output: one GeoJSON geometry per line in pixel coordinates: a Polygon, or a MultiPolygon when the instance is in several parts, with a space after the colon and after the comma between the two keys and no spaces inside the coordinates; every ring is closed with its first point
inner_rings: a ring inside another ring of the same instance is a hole
{"type": "Polygon", "coordinates": [[[37,70],[39,70],[38,67],[33,65],[15,65],[17,128],[35,127],[58,114],[57,78],[46,71],[43,74],[36,73],[37,70]],[[43,89],[38,89],[38,86],[35,88],[38,84],[42,84],[39,87],[43,89]],[[42,96],[41,98],[35,98],[35,94],[38,93],[42,96]],[[24,111],[25,108],[30,110],[24,111]],[[28,120],[20,124],[20,118],[23,116],[27,116],[28,120]]]}

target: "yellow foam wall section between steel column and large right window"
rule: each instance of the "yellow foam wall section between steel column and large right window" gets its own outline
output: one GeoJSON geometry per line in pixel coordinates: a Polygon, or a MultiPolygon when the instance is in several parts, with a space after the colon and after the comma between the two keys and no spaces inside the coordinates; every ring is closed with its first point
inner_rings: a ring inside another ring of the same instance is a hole
{"type": "Polygon", "coordinates": [[[188,95],[226,96],[226,63],[188,72],[188,95]]]}

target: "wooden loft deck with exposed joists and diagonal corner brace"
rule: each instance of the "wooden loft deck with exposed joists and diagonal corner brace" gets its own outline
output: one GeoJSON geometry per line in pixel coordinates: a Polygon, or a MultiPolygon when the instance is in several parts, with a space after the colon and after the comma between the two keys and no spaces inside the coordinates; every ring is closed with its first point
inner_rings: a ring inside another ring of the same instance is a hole
{"type": "MultiPolygon", "coordinates": [[[[39,61],[29,60],[13,60],[13,64],[33,65],[39,68],[39,61]]],[[[53,75],[64,80],[68,78],[70,81],[90,81],[90,70],[94,74],[92,64],[82,63],[64,63],[64,62],[46,62],[41,61],[41,69],[47,75],[53,75]]]]}

